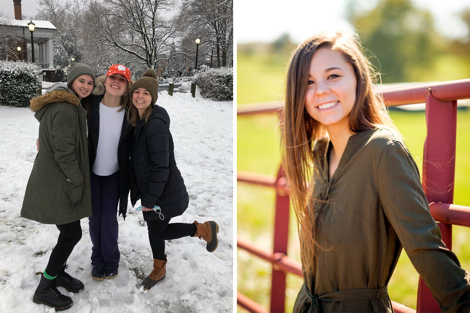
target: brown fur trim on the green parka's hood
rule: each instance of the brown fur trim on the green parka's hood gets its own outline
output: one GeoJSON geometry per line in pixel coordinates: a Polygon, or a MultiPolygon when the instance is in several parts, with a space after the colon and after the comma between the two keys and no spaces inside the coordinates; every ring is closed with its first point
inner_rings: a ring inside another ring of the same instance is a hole
{"type": "Polygon", "coordinates": [[[80,106],[80,101],[78,100],[77,96],[69,88],[67,88],[67,85],[64,83],[57,83],[54,84],[46,92],[46,94],[31,99],[30,109],[31,111],[36,112],[37,118],[40,121],[42,114],[40,114],[39,111],[47,105],[56,102],[67,102],[73,104],[76,107],[80,106]]]}

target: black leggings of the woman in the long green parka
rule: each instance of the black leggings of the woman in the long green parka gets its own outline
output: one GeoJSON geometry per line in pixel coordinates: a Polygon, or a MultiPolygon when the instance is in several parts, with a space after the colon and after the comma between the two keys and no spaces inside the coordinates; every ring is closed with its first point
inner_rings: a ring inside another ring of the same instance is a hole
{"type": "Polygon", "coordinates": [[[82,237],[80,220],[55,226],[59,229],[60,234],[57,244],[52,249],[49,263],[47,263],[46,273],[49,276],[55,276],[59,273],[59,270],[72,253],[73,248],[82,237]]]}

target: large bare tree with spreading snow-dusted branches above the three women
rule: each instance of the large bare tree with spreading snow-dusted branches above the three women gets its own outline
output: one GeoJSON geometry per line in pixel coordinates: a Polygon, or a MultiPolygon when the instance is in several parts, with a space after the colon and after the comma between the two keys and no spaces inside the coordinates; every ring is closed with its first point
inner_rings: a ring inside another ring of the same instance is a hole
{"type": "Polygon", "coordinates": [[[157,69],[159,62],[180,54],[178,28],[162,12],[174,9],[174,0],[95,1],[94,15],[88,15],[95,43],[118,49],[146,67],[157,69]]]}

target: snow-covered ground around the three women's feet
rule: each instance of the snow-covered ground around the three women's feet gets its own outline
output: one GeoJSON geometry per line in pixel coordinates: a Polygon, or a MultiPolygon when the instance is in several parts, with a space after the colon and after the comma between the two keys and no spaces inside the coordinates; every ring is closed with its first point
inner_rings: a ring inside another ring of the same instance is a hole
{"type": "MultiPolygon", "coordinates": [[[[160,92],[157,104],[171,118],[175,157],[189,193],[189,207],[172,222],[214,220],[219,246],[213,253],[197,237],[169,240],[166,278],[151,290],[140,284],[152,267],[142,213],[119,216],[119,275],[91,279],[88,220],[69,257],[67,270],[85,284],[66,312],[232,312],[233,311],[233,102],[190,93],[160,92]]],[[[55,225],[20,217],[26,183],[36,156],[39,123],[28,108],[0,106],[0,312],[54,312],[32,302],[59,235],[55,225]]],[[[140,203],[136,204],[136,207],[140,203]]]]}

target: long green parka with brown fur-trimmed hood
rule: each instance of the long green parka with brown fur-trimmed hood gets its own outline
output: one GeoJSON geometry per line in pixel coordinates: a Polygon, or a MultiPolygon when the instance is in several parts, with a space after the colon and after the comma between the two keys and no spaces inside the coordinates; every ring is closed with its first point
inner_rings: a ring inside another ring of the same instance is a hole
{"type": "Polygon", "coordinates": [[[31,99],[39,121],[34,160],[21,216],[44,224],[67,224],[91,216],[86,110],[63,83],[31,99]]]}

